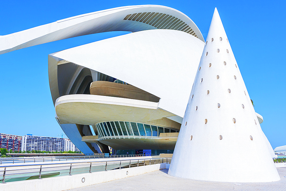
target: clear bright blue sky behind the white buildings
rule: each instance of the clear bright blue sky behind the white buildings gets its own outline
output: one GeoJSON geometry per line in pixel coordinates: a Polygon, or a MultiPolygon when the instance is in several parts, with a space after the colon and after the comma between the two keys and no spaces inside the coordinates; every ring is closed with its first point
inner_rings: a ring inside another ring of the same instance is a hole
{"type": "MultiPolygon", "coordinates": [[[[217,7],[261,128],[273,148],[286,145],[286,1],[2,1],[0,35],[126,5],[165,5],[190,17],[204,39],[217,7]]],[[[127,34],[107,32],[0,55],[0,133],[60,137],[48,82],[48,54],[127,34]]]]}

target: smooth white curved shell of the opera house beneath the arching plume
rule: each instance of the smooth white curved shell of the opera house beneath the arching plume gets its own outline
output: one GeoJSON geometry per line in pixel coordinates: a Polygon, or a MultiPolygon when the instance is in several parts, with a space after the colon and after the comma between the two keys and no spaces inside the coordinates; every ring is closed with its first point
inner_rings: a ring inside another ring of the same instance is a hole
{"type": "Polygon", "coordinates": [[[53,101],[60,96],[57,61],[67,60],[147,91],[161,98],[158,108],[183,117],[203,47],[204,42],[185,32],[157,29],[50,54],[53,101]]]}

